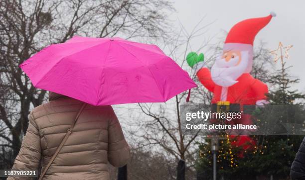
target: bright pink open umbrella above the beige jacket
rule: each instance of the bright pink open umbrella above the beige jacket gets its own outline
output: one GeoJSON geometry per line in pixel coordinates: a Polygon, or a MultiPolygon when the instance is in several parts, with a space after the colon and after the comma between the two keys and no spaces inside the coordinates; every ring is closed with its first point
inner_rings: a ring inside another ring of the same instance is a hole
{"type": "Polygon", "coordinates": [[[34,87],[93,105],[165,102],[197,87],[157,46],[75,36],[20,65],[34,87]]]}

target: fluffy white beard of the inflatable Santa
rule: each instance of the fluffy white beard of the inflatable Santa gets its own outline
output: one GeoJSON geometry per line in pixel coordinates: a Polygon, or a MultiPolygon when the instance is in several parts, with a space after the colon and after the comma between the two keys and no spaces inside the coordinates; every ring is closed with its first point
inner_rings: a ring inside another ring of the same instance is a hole
{"type": "Polygon", "coordinates": [[[218,59],[211,68],[211,77],[216,85],[230,87],[237,83],[236,81],[247,69],[248,51],[241,52],[241,61],[237,64],[239,57],[226,62],[225,59],[218,59]]]}

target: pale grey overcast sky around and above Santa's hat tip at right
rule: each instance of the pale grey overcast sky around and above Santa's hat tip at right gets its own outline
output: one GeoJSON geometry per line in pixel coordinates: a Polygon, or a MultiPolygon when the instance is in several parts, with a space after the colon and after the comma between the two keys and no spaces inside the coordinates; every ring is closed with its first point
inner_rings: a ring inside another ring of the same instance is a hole
{"type": "MultiPolygon", "coordinates": [[[[294,66],[292,74],[301,79],[294,88],[305,91],[305,0],[176,0],[174,7],[176,12],[170,18],[176,25],[181,22],[189,32],[204,15],[207,16],[203,23],[215,20],[205,34],[217,34],[215,42],[223,36],[221,32],[229,31],[237,22],[267,16],[274,11],[277,16],[257,34],[254,46],[261,40],[270,50],[276,49],[280,41],[284,46],[294,45],[287,63],[294,66]]],[[[201,43],[201,38],[196,39],[192,48],[196,49],[201,43]]]]}

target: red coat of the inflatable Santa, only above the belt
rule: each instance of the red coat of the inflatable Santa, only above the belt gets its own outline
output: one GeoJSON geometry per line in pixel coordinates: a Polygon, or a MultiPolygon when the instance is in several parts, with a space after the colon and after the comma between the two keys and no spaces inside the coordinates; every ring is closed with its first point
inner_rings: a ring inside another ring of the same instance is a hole
{"type": "MultiPolygon", "coordinates": [[[[222,87],[213,82],[210,70],[201,68],[197,72],[197,77],[206,89],[213,92],[212,103],[220,101],[222,87]]],[[[253,78],[249,73],[242,74],[236,81],[238,83],[228,87],[226,100],[230,101],[231,104],[255,105],[257,100],[266,99],[267,85],[253,78]]]]}

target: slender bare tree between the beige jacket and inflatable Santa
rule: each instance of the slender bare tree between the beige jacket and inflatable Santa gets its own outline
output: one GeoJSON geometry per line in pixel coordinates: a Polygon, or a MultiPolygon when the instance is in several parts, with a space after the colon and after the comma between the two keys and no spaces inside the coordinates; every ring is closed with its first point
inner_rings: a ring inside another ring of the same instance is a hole
{"type": "MultiPolygon", "coordinates": [[[[167,51],[168,55],[171,56],[180,67],[188,69],[190,74],[192,74],[191,69],[184,60],[186,53],[188,53],[188,51],[193,51],[190,47],[191,40],[204,34],[206,27],[208,26],[202,26],[201,24],[202,20],[199,21],[198,25],[189,34],[181,25],[181,31],[177,32],[176,38],[170,42],[167,41],[163,47],[163,50],[167,51]]],[[[208,46],[210,40],[211,39],[209,38],[204,41],[197,51],[208,46]]],[[[209,61],[209,59],[207,61],[209,61]]],[[[204,91],[202,87],[193,89],[191,93],[191,102],[189,103],[194,103],[198,100],[194,97],[195,95],[198,95],[198,93],[207,92],[204,91]]],[[[183,174],[185,173],[188,178],[191,176],[194,177],[195,175],[194,168],[192,167],[194,166],[194,143],[198,134],[185,135],[184,132],[182,132],[182,120],[180,119],[179,112],[180,105],[185,103],[187,94],[188,92],[182,92],[166,103],[139,103],[138,106],[134,108],[128,108],[128,112],[135,112],[128,113],[131,114],[132,117],[127,117],[129,120],[136,119],[135,123],[129,122],[129,125],[134,125],[129,131],[129,139],[134,139],[133,149],[135,151],[141,150],[144,152],[151,152],[151,154],[157,152],[158,154],[161,154],[164,161],[168,162],[171,166],[174,164],[177,165],[177,162],[184,164],[184,162],[187,161],[187,163],[189,163],[186,167],[186,171],[184,170],[184,166],[168,168],[166,179],[181,178],[180,175],[177,175],[177,172],[178,174],[182,174],[182,177],[184,177],[183,174]]],[[[201,97],[200,99],[203,98],[201,97]]],[[[163,167],[163,170],[164,169],[165,167],[163,167]]]]}

